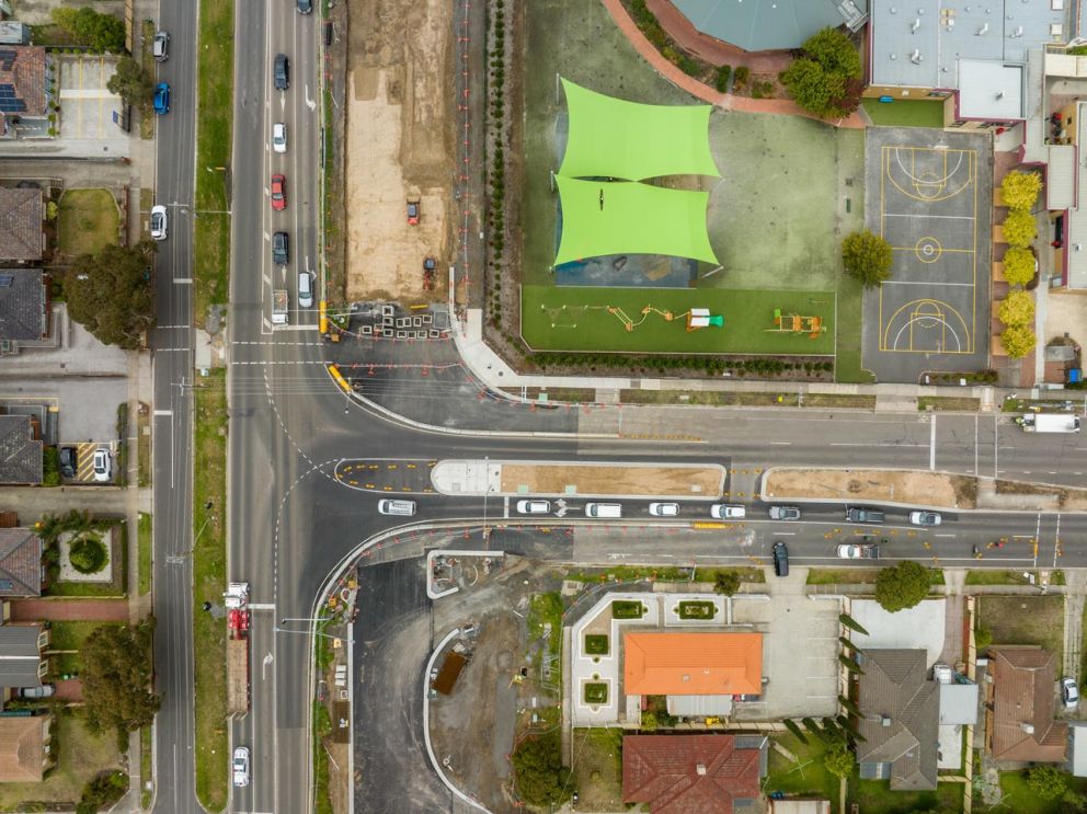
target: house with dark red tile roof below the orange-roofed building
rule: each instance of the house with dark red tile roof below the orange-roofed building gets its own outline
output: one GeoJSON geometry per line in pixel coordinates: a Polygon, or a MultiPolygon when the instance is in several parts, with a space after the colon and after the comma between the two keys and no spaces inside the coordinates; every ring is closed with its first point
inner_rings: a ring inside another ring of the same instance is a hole
{"type": "Polygon", "coordinates": [[[622,801],[654,814],[732,814],[762,796],[764,735],[628,735],[622,801]]]}

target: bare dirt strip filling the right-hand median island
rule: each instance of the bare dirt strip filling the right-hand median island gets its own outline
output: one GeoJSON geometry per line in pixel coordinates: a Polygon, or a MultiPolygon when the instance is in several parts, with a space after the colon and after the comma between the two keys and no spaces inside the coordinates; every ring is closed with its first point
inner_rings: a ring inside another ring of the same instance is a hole
{"type": "Polygon", "coordinates": [[[938,472],[879,469],[775,469],[767,472],[768,498],[809,497],[827,501],[878,501],[943,508],[972,508],[954,478],[938,472]],[[970,505],[964,505],[964,501],[970,505]]]}

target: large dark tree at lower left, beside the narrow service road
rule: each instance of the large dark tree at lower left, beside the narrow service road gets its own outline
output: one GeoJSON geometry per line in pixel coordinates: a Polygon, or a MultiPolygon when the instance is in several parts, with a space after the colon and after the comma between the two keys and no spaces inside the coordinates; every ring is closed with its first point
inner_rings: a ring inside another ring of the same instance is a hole
{"type": "Polygon", "coordinates": [[[133,732],[155,720],[162,698],[151,691],[153,618],[104,626],[83,644],[83,701],[92,732],[133,732]]]}

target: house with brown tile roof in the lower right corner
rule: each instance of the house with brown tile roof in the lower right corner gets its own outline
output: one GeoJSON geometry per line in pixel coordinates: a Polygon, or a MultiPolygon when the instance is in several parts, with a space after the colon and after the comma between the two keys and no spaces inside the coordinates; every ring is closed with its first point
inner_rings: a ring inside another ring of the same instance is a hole
{"type": "Polygon", "coordinates": [[[985,733],[997,760],[1061,763],[1068,725],[1053,720],[1056,665],[1038,646],[989,649],[985,733]]]}

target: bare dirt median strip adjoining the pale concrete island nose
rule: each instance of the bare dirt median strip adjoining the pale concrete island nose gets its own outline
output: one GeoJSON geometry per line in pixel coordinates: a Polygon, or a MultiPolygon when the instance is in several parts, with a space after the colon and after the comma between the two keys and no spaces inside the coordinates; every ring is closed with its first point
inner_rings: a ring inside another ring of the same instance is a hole
{"type": "Polygon", "coordinates": [[[576,486],[585,495],[671,495],[717,497],[724,486],[720,467],[579,467],[503,463],[501,491],[516,494],[565,494],[576,486]]]}

